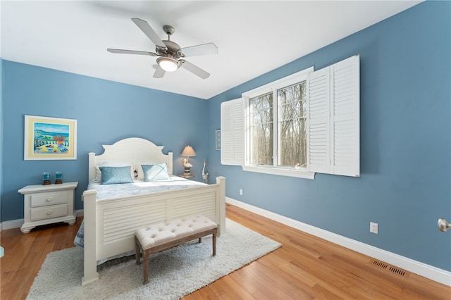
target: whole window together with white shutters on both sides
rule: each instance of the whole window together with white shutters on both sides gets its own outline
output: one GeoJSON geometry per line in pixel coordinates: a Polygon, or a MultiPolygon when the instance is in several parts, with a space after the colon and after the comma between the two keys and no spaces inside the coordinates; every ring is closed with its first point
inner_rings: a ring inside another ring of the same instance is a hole
{"type": "Polygon", "coordinates": [[[221,104],[221,163],[314,179],[358,177],[359,56],[313,67],[221,104]]]}

